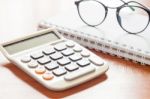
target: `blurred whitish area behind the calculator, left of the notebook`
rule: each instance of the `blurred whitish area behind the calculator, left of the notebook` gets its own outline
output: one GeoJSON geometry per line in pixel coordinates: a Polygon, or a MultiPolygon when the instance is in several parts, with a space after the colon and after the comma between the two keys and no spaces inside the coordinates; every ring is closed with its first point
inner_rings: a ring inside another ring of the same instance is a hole
{"type": "Polygon", "coordinates": [[[0,0],[0,35],[3,35],[0,41],[35,31],[41,20],[65,11],[69,2],[71,0],[0,0]]]}

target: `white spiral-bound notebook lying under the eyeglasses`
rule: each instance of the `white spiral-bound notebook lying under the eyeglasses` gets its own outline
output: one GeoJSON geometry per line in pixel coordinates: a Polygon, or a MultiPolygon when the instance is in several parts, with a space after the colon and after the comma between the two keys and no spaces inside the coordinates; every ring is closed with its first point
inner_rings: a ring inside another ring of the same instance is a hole
{"type": "MultiPolygon", "coordinates": [[[[137,22],[140,24],[142,20],[137,22]]],[[[64,37],[85,47],[150,65],[150,26],[143,33],[131,35],[120,28],[115,13],[110,13],[102,25],[94,28],[85,25],[77,12],[73,12],[51,17],[39,24],[39,28],[50,27],[55,27],[64,37]]]]}

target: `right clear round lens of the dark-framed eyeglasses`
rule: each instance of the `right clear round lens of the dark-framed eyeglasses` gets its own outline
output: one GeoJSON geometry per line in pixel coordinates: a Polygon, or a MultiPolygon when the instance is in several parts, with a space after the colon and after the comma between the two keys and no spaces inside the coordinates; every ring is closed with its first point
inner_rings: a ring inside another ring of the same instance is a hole
{"type": "Polygon", "coordinates": [[[132,8],[134,11],[127,6],[120,9],[119,16],[121,18],[121,26],[132,33],[141,32],[149,22],[149,15],[142,8],[136,6],[133,6],[132,8]]]}

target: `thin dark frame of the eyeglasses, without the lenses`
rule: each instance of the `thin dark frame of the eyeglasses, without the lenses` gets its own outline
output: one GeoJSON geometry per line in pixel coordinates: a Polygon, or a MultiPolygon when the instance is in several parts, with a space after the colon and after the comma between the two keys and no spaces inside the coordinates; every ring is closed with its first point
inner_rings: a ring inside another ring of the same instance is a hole
{"type": "Polygon", "coordinates": [[[148,27],[148,25],[149,25],[149,23],[150,23],[150,10],[149,10],[146,6],[140,4],[140,3],[136,2],[136,1],[129,1],[129,2],[125,2],[125,1],[123,1],[123,0],[120,0],[120,1],[123,2],[123,4],[120,5],[120,6],[118,6],[118,7],[109,7],[109,6],[106,6],[106,5],[104,5],[102,2],[100,2],[100,1],[98,1],[98,0],[79,0],[79,1],[75,1],[75,5],[76,5],[76,7],[77,7],[77,11],[78,11],[78,15],[79,15],[80,19],[81,19],[85,24],[87,24],[88,26],[96,27],[96,26],[102,24],[102,23],[105,21],[106,17],[107,17],[108,9],[116,9],[117,21],[118,21],[120,27],[121,27],[124,31],[126,31],[126,32],[129,33],[129,34],[139,34],[139,33],[143,32],[143,31],[145,31],[145,29],[148,27]],[[91,24],[87,23],[87,22],[81,17],[81,14],[80,14],[80,11],[79,11],[79,4],[80,4],[81,2],[84,2],[84,1],[95,1],[95,2],[97,2],[97,3],[100,3],[100,4],[104,7],[104,9],[105,9],[105,16],[104,16],[104,19],[103,19],[100,23],[98,23],[98,24],[96,24],[96,25],[91,25],[91,24]],[[140,6],[129,5],[129,3],[137,3],[137,4],[140,5],[140,6]],[[123,7],[129,7],[131,10],[134,10],[134,8],[132,8],[132,7],[137,7],[137,8],[141,8],[141,9],[143,9],[145,12],[147,12],[148,15],[149,15],[149,20],[148,20],[148,23],[147,23],[146,27],[145,27],[144,29],[142,29],[141,31],[139,31],[139,32],[130,32],[130,31],[126,30],[126,29],[122,26],[122,24],[121,24],[120,15],[119,15],[119,12],[120,12],[120,10],[121,10],[123,7]]]}

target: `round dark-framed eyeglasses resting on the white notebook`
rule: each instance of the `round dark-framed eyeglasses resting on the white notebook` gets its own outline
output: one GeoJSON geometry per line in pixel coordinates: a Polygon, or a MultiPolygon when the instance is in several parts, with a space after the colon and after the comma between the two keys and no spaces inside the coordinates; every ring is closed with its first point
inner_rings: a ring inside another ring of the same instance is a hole
{"type": "Polygon", "coordinates": [[[96,27],[103,23],[106,19],[108,8],[110,8],[116,9],[117,21],[124,31],[130,34],[143,32],[150,22],[150,10],[135,1],[120,1],[123,2],[123,5],[119,7],[108,7],[97,0],[75,1],[75,5],[77,6],[79,17],[88,26],[96,27]]]}

